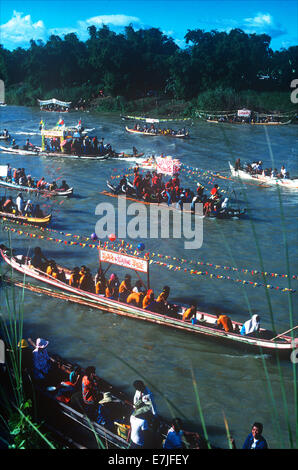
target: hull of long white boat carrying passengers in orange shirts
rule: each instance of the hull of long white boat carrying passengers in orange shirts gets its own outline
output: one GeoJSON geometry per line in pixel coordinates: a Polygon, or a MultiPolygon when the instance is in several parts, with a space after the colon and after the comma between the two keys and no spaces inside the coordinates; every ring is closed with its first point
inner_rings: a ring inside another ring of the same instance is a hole
{"type": "MultiPolygon", "coordinates": [[[[111,253],[113,252],[108,250],[108,255],[111,255],[111,253]]],[[[115,253],[119,256],[118,252],[115,253]]],[[[285,334],[276,335],[264,328],[261,328],[258,337],[250,335],[243,336],[239,333],[242,324],[236,321],[232,321],[233,332],[226,332],[218,329],[216,328],[217,317],[209,313],[201,312],[200,310],[197,310],[196,312],[194,323],[183,321],[182,316],[186,307],[182,305],[176,305],[175,315],[169,316],[110,299],[104,295],[86,292],[79,288],[71,287],[68,283],[57,280],[56,278],[48,276],[44,272],[35,269],[30,265],[29,257],[23,255],[16,257],[14,254],[11,254],[11,250],[3,245],[1,246],[0,254],[3,260],[12,269],[18,271],[23,276],[28,276],[29,278],[45,283],[48,286],[51,286],[51,288],[55,288],[60,291],[62,290],[65,293],[63,294],[63,298],[71,302],[85,304],[99,310],[136,320],[143,320],[160,326],[167,326],[178,331],[197,334],[201,337],[214,339],[217,342],[226,345],[244,348],[246,351],[269,354],[280,353],[281,355],[286,355],[286,357],[289,358],[293,349],[298,347],[298,338],[293,340],[290,336],[286,336],[285,334]]],[[[126,257],[128,257],[128,255],[126,255],[126,257]]],[[[66,280],[69,279],[71,271],[65,267],[60,266],[59,268],[64,270],[66,280]]],[[[51,295],[50,291],[48,295],[51,295]]]]}

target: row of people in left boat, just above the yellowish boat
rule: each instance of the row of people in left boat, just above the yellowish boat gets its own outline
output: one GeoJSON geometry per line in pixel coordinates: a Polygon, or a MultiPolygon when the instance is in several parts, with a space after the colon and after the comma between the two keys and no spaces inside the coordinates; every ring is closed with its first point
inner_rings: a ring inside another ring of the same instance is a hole
{"type": "Polygon", "coordinates": [[[66,191],[69,189],[66,180],[63,180],[61,185],[58,187],[56,181],[49,183],[45,180],[44,176],[39,179],[33,178],[31,175],[26,175],[24,168],[12,168],[9,163],[7,163],[7,176],[5,181],[8,183],[13,183],[27,188],[36,188],[39,190],[66,191]]]}

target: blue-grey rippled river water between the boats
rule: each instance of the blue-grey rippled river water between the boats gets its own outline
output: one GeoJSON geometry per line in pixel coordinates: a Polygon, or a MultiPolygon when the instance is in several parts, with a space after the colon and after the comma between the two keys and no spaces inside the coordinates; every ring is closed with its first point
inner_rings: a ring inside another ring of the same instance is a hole
{"type": "MultiPolygon", "coordinates": [[[[41,118],[46,128],[50,128],[57,123],[59,114],[41,113],[37,108],[0,108],[1,128],[7,128],[20,145],[25,143],[27,137],[32,143],[40,145],[38,129],[41,118]]],[[[132,147],[136,146],[146,155],[164,153],[179,158],[190,167],[216,170],[225,176],[229,176],[229,161],[234,162],[238,157],[241,161],[261,159],[265,167],[280,169],[285,164],[292,176],[298,175],[297,128],[293,125],[265,128],[186,121],[183,125],[189,128],[191,138],[178,141],[130,135],[125,131],[126,123],[118,115],[72,112],[63,115],[63,118],[67,126],[76,125],[82,118],[85,128],[94,129],[90,135],[97,135],[99,139],[104,137],[105,143],[111,143],[117,151],[131,153],[132,147]]],[[[176,129],[179,125],[171,124],[176,129]]],[[[73,198],[60,204],[60,201],[40,200],[43,210],[53,213],[49,228],[87,237],[95,231],[97,204],[109,202],[115,207],[117,205],[116,199],[108,200],[100,194],[106,189],[106,180],[111,175],[126,173],[127,167],[133,165],[133,162],[123,160],[97,162],[5,153],[1,154],[0,161],[1,164],[10,163],[12,167],[23,167],[27,174],[44,176],[48,181],[66,179],[74,187],[73,198]]],[[[297,274],[298,192],[278,192],[276,188],[249,184],[243,187],[238,182],[215,181],[210,175],[207,176],[200,179],[206,190],[209,191],[217,182],[223,194],[230,194],[234,199],[236,196],[237,204],[248,209],[247,217],[241,220],[205,219],[203,244],[195,250],[186,250],[183,238],[127,238],[126,241],[131,241],[134,246],[142,241],[149,252],[238,268],[238,271],[212,270],[205,264],[199,269],[207,271],[208,275],[194,277],[182,270],[173,271],[152,265],[150,278],[156,293],[167,284],[171,287],[171,300],[188,302],[195,298],[202,311],[226,312],[241,322],[249,318],[250,310],[258,313],[262,326],[269,329],[272,328],[271,309],[277,332],[288,330],[291,307],[293,323],[297,324],[296,293],[289,294],[281,289],[263,286],[252,287],[234,280],[297,288],[296,279],[292,279],[290,284],[283,276],[267,277],[264,281],[261,275],[251,275],[249,271],[261,272],[264,269],[268,273],[287,274],[286,240],[290,274],[297,274]],[[281,218],[281,210],[284,219],[281,218]],[[210,273],[229,275],[233,280],[211,278],[210,273]]],[[[195,177],[186,177],[185,172],[181,180],[183,186],[193,188],[198,181],[195,177]]],[[[13,195],[16,196],[16,192],[13,195]]],[[[95,250],[37,242],[13,233],[11,237],[15,249],[32,249],[39,244],[49,258],[61,264],[69,267],[85,264],[93,273],[97,270],[95,250]]],[[[7,234],[1,231],[0,239],[7,243],[7,234]]],[[[167,263],[171,264],[171,261],[167,263]]],[[[115,268],[114,271],[123,276],[121,270],[115,268]]],[[[3,300],[2,293],[1,302],[3,300]]],[[[131,395],[132,382],[143,378],[154,391],[162,415],[168,418],[172,414],[179,415],[190,425],[198,423],[201,431],[195,383],[208,435],[216,446],[228,447],[224,415],[239,447],[254,421],[264,424],[263,434],[272,448],[290,445],[287,416],[295,434],[293,364],[289,359],[281,361],[279,372],[276,359],[267,355],[243,353],[211,340],[105,314],[30,291],[26,291],[24,300],[24,330],[27,336],[47,338],[52,352],[77,361],[82,366],[95,365],[99,375],[131,395]],[[170,404],[176,408],[173,409],[170,404]]]]}

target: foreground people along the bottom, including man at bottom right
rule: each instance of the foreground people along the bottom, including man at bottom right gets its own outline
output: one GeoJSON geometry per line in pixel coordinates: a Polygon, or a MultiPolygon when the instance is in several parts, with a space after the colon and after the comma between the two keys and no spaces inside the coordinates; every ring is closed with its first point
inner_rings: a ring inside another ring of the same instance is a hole
{"type": "MultiPolygon", "coordinates": [[[[96,368],[71,366],[65,372],[64,379],[58,380],[55,360],[48,353],[49,341],[37,338],[33,351],[26,340],[20,341],[22,364],[33,381],[43,389],[50,389],[53,397],[62,403],[77,409],[91,421],[118,434],[129,442],[130,449],[167,450],[204,448],[207,443],[197,433],[183,429],[179,417],[166,424],[159,414],[155,397],[142,380],[132,384],[133,395],[130,400],[123,400],[106,391],[96,376],[96,368]]],[[[267,449],[268,444],[262,436],[263,425],[254,422],[251,432],[245,439],[243,449],[267,449]]],[[[235,439],[231,436],[230,447],[236,449],[235,439]]]]}

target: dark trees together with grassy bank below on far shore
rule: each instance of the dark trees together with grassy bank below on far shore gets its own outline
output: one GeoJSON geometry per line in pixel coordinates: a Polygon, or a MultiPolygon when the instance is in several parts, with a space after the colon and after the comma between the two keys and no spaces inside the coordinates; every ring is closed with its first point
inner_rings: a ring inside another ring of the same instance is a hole
{"type": "Polygon", "coordinates": [[[186,47],[158,28],[123,33],[88,27],[31,40],[27,49],[0,45],[0,79],[6,103],[38,106],[38,99],[71,101],[73,109],[154,117],[197,118],[247,108],[295,116],[291,83],[298,46],[273,51],[266,34],[188,30],[186,47]]]}

